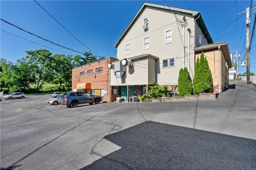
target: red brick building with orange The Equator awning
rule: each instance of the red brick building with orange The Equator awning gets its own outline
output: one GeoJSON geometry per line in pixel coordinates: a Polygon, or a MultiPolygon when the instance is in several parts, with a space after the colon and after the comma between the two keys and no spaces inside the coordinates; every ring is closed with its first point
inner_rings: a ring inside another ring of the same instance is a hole
{"type": "Polygon", "coordinates": [[[115,58],[99,60],[72,69],[72,91],[87,91],[109,101],[109,72],[107,64],[115,58]]]}

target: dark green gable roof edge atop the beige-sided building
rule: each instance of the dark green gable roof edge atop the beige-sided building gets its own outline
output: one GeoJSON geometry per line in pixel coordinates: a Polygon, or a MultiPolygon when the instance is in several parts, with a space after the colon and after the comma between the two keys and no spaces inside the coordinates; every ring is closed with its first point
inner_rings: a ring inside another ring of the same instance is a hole
{"type": "Polygon", "coordinates": [[[199,18],[197,19],[197,24],[199,25],[199,27],[202,30],[202,32],[205,34],[206,39],[208,40],[209,44],[213,43],[213,39],[211,38],[211,36],[210,36],[210,34],[209,34],[209,32],[208,32],[208,30],[206,28],[205,22],[204,22],[204,20],[202,18],[202,15],[200,14],[199,11],[192,11],[192,10],[188,10],[188,9],[176,8],[176,7],[171,7],[171,6],[159,5],[159,4],[144,3],[142,5],[142,7],[140,8],[140,10],[133,17],[132,21],[129,23],[129,25],[126,27],[126,29],[123,31],[122,35],[118,38],[118,40],[114,44],[114,47],[117,47],[119,45],[119,43],[121,42],[123,37],[126,35],[128,30],[133,26],[133,23],[140,16],[140,14],[142,13],[143,9],[145,7],[147,7],[147,6],[154,7],[154,8],[159,8],[159,9],[164,9],[164,10],[168,10],[168,11],[170,11],[170,9],[171,9],[172,11],[178,11],[179,13],[190,14],[194,18],[197,18],[199,16],[199,18]]]}

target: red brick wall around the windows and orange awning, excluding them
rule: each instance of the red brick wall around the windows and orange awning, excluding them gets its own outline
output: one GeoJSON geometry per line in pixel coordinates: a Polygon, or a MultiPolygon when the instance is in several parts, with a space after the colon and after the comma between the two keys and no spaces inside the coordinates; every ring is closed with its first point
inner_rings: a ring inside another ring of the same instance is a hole
{"type": "MultiPolygon", "coordinates": [[[[107,63],[113,62],[114,58],[96,61],[87,65],[83,65],[72,69],[72,91],[77,89],[78,83],[91,83],[91,89],[104,89],[109,94],[109,73],[107,69],[107,63]],[[100,73],[96,73],[96,68],[102,67],[103,70],[100,73]],[[92,70],[93,74],[87,74],[85,70],[92,70]],[[85,72],[83,76],[80,76],[80,72],[85,72]],[[77,76],[77,78],[75,78],[77,76]]],[[[88,92],[91,93],[91,89],[88,92]]],[[[77,89],[78,90],[78,89],[77,89]]],[[[83,90],[84,91],[84,90],[83,90]]],[[[108,94],[104,94],[104,101],[109,101],[108,94]]]]}

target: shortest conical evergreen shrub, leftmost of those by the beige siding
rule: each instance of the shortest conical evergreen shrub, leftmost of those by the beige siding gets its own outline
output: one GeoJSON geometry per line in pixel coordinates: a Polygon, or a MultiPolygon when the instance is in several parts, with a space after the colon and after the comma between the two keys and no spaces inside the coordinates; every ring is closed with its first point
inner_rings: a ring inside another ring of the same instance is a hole
{"type": "Polygon", "coordinates": [[[192,83],[189,80],[189,73],[187,71],[187,67],[185,67],[184,69],[181,68],[179,71],[178,92],[179,96],[192,94],[193,92],[192,83]]]}

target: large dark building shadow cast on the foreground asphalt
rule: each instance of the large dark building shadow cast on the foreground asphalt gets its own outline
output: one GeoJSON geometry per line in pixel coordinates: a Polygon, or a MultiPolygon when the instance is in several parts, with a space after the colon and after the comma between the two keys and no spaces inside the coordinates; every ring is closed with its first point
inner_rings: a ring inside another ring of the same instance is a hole
{"type": "Polygon", "coordinates": [[[122,148],[82,170],[256,168],[256,140],[252,139],[152,121],[104,138],[122,148]]]}

